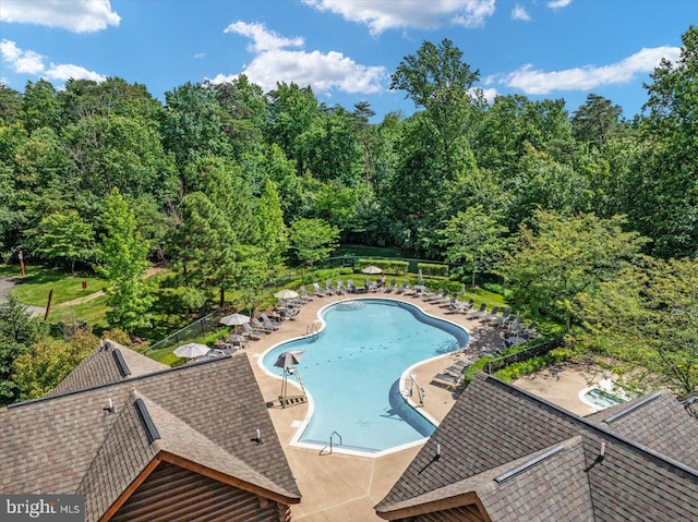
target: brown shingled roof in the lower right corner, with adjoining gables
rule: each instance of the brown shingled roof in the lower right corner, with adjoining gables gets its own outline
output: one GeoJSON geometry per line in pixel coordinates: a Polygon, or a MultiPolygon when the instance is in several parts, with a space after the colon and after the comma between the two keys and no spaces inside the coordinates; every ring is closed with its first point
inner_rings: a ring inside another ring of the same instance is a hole
{"type": "Polygon", "coordinates": [[[583,418],[480,374],[376,512],[430,521],[697,520],[698,423],[669,393],[643,399],[583,418]]]}

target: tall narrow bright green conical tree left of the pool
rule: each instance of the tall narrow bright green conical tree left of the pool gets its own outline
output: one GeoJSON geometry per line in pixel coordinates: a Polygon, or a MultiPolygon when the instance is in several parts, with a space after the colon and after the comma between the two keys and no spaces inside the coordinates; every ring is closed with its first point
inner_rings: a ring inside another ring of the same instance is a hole
{"type": "Polygon", "coordinates": [[[145,288],[151,267],[149,246],[136,228],[133,210],[118,190],[111,191],[105,207],[100,264],[95,265],[95,271],[109,281],[106,289],[107,304],[111,307],[107,312],[109,325],[133,335],[136,328],[151,325],[148,311],[153,298],[145,288]]]}

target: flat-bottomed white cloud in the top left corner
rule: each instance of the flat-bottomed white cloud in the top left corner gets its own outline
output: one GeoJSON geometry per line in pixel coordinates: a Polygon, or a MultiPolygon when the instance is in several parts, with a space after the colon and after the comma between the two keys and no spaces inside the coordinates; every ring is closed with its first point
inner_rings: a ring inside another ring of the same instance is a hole
{"type": "Polygon", "coordinates": [[[95,33],[119,25],[109,0],[2,0],[0,21],[95,33]]]}

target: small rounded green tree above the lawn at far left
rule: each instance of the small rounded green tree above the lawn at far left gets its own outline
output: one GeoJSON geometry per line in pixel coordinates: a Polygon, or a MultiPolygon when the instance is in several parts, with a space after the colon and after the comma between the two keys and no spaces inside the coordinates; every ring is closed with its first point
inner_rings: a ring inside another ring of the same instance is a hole
{"type": "Polygon", "coordinates": [[[95,231],[75,210],[45,217],[33,235],[36,254],[67,263],[73,274],[75,262],[88,262],[93,256],[95,231]]]}

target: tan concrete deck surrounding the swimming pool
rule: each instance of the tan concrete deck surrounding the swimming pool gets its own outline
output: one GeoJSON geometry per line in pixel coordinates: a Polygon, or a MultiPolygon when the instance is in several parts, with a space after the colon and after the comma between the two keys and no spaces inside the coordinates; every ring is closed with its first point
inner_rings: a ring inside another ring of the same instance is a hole
{"type": "MultiPolygon", "coordinates": [[[[317,313],[323,306],[341,300],[375,298],[411,303],[432,316],[465,327],[471,336],[468,351],[428,361],[413,369],[418,381],[425,390],[424,411],[436,421],[444,418],[455,403],[456,397],[452,391],[431,384],[432,377],[450,366],[456,359],[486,351],[502,343],[496,329],[488,328],[477,320],[466,319],[464,314],[445,314],[447,308],[440,308],[421,299],[399,295],[395,292],[315,298],[301,307],[293,320],[284,321],[279,330],[268,333],[258,341],[250,342],[242,352],[251,359],[264,400],[274,403],[268,411],[303,496],[301,503],[292,508],[293,521],[383,520],[375,514],[373,506],[383,499],[421,448],[419,445],[373,458],[337,452],[333,454],[325,452],[321,456],[317,450],[290,446],[291,438],[297,432],[296,426],[305,418],[308,405],[301,403],[286,409],[280,408],[278,396],[281,381],[267,375],[257,364],[260,355],[270,347],[294,337],[305,336],[308,326],[318,318],[317,313]]],[[[406,387],[406,385],[402,386],[402,388],[406,387]]]]}

